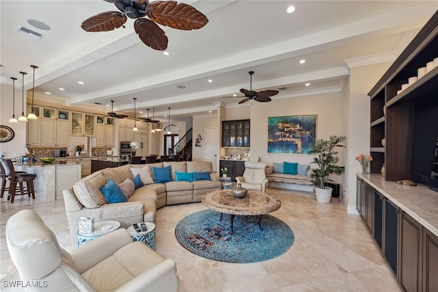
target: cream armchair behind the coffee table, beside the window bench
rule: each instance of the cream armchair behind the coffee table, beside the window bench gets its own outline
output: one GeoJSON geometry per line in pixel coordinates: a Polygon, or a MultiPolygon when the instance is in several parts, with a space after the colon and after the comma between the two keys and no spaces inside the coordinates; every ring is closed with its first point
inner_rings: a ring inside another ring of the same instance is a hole
{"type": "Polygon", "coordinates": [[[266,163],[257,161],[245,161],[244,176],[236,176],[237,184],[245,189],[265,191],[268,180],[266,179],[266,163]]]}

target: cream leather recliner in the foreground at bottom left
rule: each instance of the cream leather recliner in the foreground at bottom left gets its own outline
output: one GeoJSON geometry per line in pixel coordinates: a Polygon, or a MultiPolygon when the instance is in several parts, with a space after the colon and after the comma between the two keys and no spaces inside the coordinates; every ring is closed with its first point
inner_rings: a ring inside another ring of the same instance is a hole
{"type": "Polygon", "coordinates": [[[6,239],[28,291],[178,291],[175,261],[164,258],[125,229],[94,239],[70,254],[31,210],[6,224],[6,239]]]}

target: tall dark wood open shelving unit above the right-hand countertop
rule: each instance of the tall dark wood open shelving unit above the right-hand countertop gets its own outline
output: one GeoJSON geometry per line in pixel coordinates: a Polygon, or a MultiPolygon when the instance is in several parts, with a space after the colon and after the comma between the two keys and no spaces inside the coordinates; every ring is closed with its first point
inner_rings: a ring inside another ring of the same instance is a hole
{"type": "Polygon", "coordinates": [[[433,126],[421,134],[422,139],[436,141],[438,128],[434,120],[438,116],[438,98],[435,94],[438,90],[438,67],[427,72],[407,89],[398,91],[402,84],[408,83],[410,77],[417,76],[419,68],[425,67],[426,63],[438,56],[437,51],[438,12],[435,12],[368,93],[371,97],[370,154],[373,157],[370,172],[380,173],[385,164],[386,181],[409,178],[428,184],[427,176],[418,176],[415,171],[411,171],[411,161],[419,160],[413,159],[413,156],[427,160],[428,155],[428,151],[415,150],[413,134],[417,133],[415,120],[427,116],[428,122],[424,124],[433,126]]]}

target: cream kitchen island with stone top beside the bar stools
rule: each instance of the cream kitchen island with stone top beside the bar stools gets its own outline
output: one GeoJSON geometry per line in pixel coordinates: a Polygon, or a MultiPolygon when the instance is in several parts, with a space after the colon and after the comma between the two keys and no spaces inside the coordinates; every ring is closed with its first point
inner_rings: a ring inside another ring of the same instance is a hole
{"type": "Polygon", "coordinates": [[[36,174],[34,181],[35,199],[43,202],[62,199],[62,190],[68,189],[81,179],[81,165],[76,162],[65,163],[14,163],[15,170],[36,174]]]}

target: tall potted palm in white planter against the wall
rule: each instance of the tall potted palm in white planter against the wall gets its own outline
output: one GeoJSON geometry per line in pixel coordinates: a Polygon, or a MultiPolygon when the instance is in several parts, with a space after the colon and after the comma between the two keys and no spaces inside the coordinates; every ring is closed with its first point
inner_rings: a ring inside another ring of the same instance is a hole
{"type": "Polygon", "coordinates": [[[318,168],[313,170],[312,178],[315,187],[315,196],[318,202],[329,203],[331,198],[331,187],[327,186],[330,174],[340,175],[344,172],[344,166],[337,165],[339,157],[337,157],[337,147],[345,147],[342,143],[347,140],[345,136],[333,135],[329,140],[316,140],[315,148],[309,151],[313,157],[314,163],[318,168]]]}

